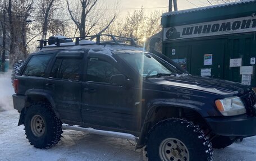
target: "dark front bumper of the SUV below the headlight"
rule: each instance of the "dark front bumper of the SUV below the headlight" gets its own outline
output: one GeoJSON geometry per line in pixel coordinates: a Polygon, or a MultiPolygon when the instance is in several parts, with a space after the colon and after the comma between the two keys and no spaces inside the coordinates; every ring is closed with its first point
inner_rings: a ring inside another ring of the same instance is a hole
{"type": "Polygon", "coordinates": [[[256,117],[246,114],[231,117],[205,118],[214,134],[222,136],[256,135],[256,117]]]}

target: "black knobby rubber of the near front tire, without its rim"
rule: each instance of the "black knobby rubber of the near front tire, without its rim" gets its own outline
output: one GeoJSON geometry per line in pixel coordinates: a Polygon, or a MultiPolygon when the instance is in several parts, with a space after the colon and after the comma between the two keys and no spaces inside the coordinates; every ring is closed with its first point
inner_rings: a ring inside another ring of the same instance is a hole
{"type": "Polygon", "coordinates": [[[148,133],[146,157],[149,161],[161,161],[159,145],[168,137],[184,142],[186,147],[190,149],[190,161],[213,160],[212,144],[199,126],[186,119],[168,118],[158,122],[148,133]]]}

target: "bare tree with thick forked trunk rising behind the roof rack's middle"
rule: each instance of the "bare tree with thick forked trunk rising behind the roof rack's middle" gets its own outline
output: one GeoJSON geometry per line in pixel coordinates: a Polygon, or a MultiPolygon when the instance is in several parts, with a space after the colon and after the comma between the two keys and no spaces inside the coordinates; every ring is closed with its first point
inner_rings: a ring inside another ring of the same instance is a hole
{"type": "Polygon", "coordinates": [[[95,6],[97,6],[97,4],[98,8],[103,7],[103,5],[98,3],[98,0],[72,1],[72,7],[68,0],[66,0],[66,2],[71,20],[79,30],[80,36],[86,36],[92,33],[102,34],[116,19],[116,13],[114,13],[110,20],[104,20],[106,17],[104,10],[95,10],[95,6]]]}

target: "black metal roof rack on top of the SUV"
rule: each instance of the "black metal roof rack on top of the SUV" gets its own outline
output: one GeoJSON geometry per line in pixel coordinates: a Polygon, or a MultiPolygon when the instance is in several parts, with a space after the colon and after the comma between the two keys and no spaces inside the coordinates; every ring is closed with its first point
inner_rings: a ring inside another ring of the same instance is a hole
{"type": "Polygon", "coordinates": [[[49,42],[49,39],[42,39],[38,40],[40,42],[40,46],[38,48],[56,48],[56,47],[72,47],[76,45],[94,45],[94,43],[88,43],[88,44],[80,44],[79,42],[81,40],[90,40],[95,42],[97,45],[129,45],[129,46],[135,46],[138,47],[138,45],[135,42],[135,39],[132,38],[126,38],[122,36],[115,36],[115,35],[108,35],[108,34],[100,34],[100,35],[92,35],[92,36],[81,36],[81,37],[74,37],[74,38],[55,38],[55,45],[47,45],[49,42]],[[106,36],[107,39],[103,39],[102,37],[106,36]],[[72,43],[75,44],[68,44],[68,45],[60,45],[62,42],[65,42],[65,40],[72,39],[72,43]],[[95,41],[96,39],[96,41],[95,41]],[[103,39],[103,40],[102,40],[103,39]],[[75,40],[75,42],[74,42],[75,40]],[[130,43],[130,44],[129,44],[130,43]]]}

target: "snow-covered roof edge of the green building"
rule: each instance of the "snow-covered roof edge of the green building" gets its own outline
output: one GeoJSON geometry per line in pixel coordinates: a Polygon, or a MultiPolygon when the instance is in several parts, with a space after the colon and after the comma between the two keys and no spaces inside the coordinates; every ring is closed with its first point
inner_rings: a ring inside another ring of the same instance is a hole
{"type": "Polygon", "coordinates": [[[171,15],[180,15],[182,13],[191,13],[191,12],[197,12],[197,11],[211,10],[214,8],[225,8],[225,7],[230,7],[230,6],[238,6],[240,4],[254,3],[254,2],[256,2],[256,0],[244,0],[244,1],[239,1],[239,2],[224,3],[224,4],[213,5],[213,6],[207,6],[207,7],[191,8],[189,10],[180,10],[180,11],[163,13],[162,17],[171,16],[171,15]]]}

